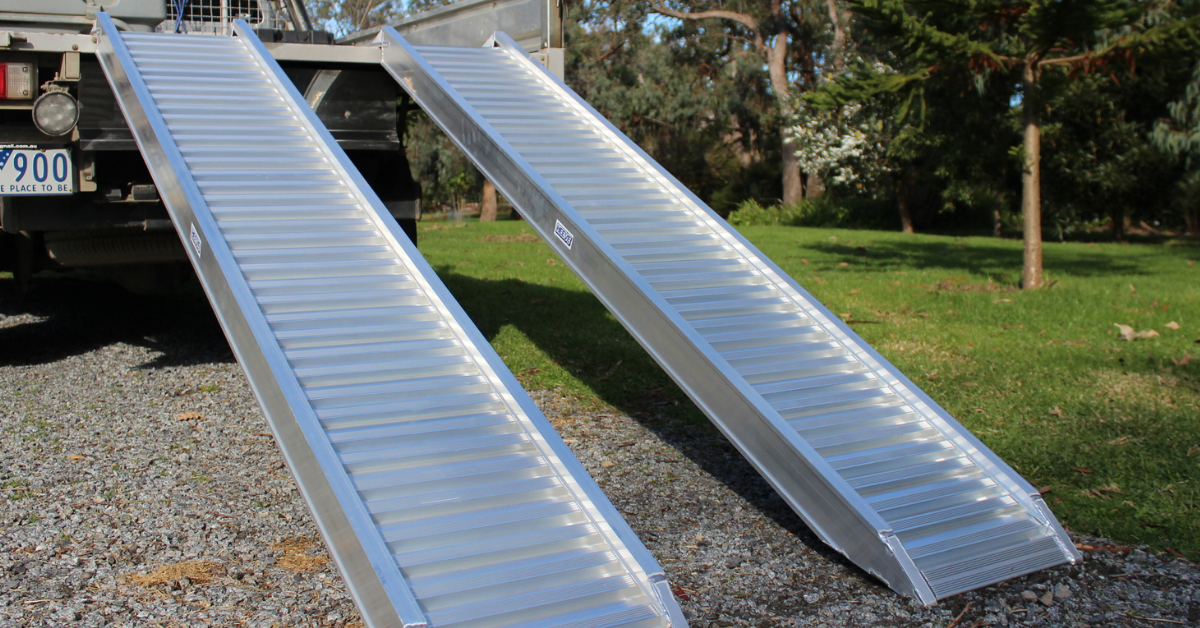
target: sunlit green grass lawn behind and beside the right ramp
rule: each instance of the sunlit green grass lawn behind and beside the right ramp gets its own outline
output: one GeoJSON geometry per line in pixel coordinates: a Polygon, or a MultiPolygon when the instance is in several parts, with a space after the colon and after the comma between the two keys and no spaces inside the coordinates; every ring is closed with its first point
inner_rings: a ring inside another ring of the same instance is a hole
{"type": "MultiPolygon", "coordinates": [[[[1020,241],[743,232],[1070,530],[1200,558],[1200,243],[1046,243],[1052,285],[1020,292],[1020,241]],[[1114,323],[1160,335],[1121,341],[1114,323]]],[[[421,239],[528,389],[710,429],[524,223],[426,223],[421,239]]]]}

